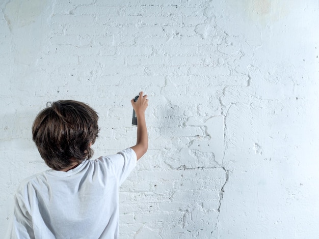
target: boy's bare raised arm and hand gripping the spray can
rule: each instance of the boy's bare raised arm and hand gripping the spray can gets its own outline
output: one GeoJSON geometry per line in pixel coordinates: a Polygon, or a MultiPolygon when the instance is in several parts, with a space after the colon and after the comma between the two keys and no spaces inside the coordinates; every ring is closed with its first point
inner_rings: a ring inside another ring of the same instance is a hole
{"type": "Polygon", "coordinates": [[[139,99],[136,102],[132,99],[131,103],[138,119],[137,141],[136,145],[131,148],[135,151],[137,159],[139,160],[146,153],[148,148],[148,136],[145,122],[145,110],[148,106],[147,95],[143,96],[143,92],[140,92],[139,99]]]}

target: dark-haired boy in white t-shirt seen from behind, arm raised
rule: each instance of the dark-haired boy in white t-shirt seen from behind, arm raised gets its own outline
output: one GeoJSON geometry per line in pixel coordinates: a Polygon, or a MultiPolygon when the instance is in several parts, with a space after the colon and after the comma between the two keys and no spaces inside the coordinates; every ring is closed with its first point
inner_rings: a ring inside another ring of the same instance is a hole
{"type": "Polygon", "coordinates": [[[38,114],[33,140],[51,170],[19,186],[9,238],[118,238],[118,188],[148,148],[147,95],[131,104],[138,118],[136,145],[96,160],[88,160],[99,131],[91,107],[57,101],[38,114]]]}

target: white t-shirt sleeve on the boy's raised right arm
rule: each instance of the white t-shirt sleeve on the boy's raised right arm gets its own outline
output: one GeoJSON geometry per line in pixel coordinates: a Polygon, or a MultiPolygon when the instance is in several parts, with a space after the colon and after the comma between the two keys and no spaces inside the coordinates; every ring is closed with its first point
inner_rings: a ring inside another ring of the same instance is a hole
{"type": "Polygon", "coordinates": [[[126,148],[126,150],[117,153],[115,157],[112,158],[119,185],[126,180],[130,172],[135,168],[136,162],[136,153],[131,148],[126,148]]]}

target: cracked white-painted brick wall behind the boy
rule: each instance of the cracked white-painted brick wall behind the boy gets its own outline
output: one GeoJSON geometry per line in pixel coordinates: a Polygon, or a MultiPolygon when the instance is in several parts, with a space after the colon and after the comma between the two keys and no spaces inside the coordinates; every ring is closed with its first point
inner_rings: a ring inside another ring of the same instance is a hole
{"type": "Polygon", "coordinates": [[[0,3],[0,234],[19,182],[46,168],[31,125],[48,101],[100,115],[95,156],[149,151],[121,188],[121,238],[316,238],[319,3],[0,3]]]}

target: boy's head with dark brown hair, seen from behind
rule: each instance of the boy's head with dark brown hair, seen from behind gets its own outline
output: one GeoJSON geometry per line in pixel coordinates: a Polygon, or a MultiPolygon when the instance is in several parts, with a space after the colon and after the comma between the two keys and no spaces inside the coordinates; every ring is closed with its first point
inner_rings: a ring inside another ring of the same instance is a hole
{"type": "Polygon", "coordinates": [[[93,155],[98,134],[97,113],[87,104],[60,100],[47,103],[32,126],[33,141],[52,169],[62,170],[93,155]]]}

